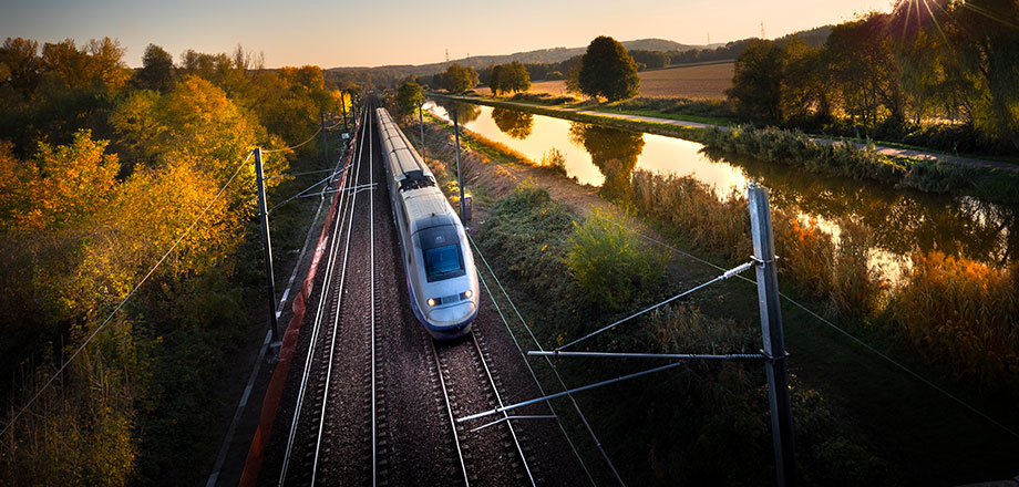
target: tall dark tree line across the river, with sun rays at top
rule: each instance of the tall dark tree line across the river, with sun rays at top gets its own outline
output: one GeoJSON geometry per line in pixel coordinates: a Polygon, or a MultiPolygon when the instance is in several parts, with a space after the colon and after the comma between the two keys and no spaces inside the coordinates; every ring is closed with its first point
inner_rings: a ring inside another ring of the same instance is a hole
{"type": "Polygon", "coordinates": [[[1019,147],[1019,6],[899,2],[820,46],[754,40],[735,64],[737,116],[956,151],[1019,147]]]}

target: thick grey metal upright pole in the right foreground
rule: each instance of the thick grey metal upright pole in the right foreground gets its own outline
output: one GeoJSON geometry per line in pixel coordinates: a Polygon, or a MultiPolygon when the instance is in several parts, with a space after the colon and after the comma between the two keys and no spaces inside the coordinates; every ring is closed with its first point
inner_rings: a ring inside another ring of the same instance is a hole
{"type": "Polygon", "coordinates": [[[771,226],[768,188],[748,188],[753,255],[758,261],[758,304],[768,360],[768,402],[771,405],[771,431],[775,448],[775,475],[780,486],[795,486],[796,457],[793,446],[793,414],[789,398],[789,364],[782,310],[779,307],[779,277],[775,271],[775,244],[771,226]]]}

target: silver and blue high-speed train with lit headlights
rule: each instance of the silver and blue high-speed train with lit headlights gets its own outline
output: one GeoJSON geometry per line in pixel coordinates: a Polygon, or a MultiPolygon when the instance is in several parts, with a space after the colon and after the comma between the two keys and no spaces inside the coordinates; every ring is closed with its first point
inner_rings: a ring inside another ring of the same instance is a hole
{"type": "Polygon", "coordinates": [[[471,331],[477,273],[460,217],[384,108],[375,108],[385,178],[414,315],[435,339],[471,331]]]}

